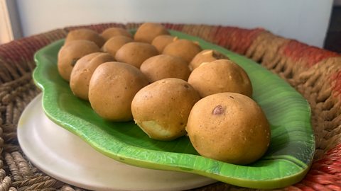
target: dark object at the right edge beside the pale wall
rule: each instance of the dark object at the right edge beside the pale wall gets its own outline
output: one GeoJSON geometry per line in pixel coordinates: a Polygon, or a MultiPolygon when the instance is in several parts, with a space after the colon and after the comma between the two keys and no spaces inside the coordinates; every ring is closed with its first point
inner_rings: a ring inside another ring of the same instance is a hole
{"type": "Polygon", "coordinates": [[[325,49],[341,53],[341,6],[332,8],[325,49]]]}

